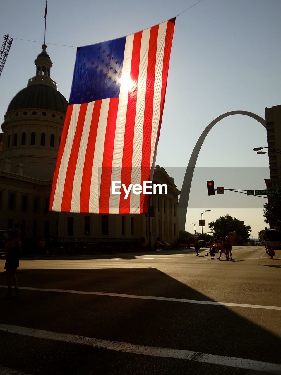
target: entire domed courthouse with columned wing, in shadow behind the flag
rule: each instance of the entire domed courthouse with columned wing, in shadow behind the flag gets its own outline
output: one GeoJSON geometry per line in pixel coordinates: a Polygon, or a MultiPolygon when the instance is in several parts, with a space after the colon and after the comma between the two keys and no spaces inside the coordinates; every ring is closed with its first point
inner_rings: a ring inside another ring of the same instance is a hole
{"type": "MultiPolygon", "coordinates": [[[[149,239],[149,217],[139,215],[49,212],[49,195],[67,101],[51,78],[46,45],[34,61],[36,75],[10,102],[0,137],[0,228],[21,223],[21,236],[36,242],[121,242],[149,239]]],[[[166,195],[151,198],[151,242],[174,243],[179,237],[179,190],[164,168],[153,183],[166,183],[166,195]]]]}

